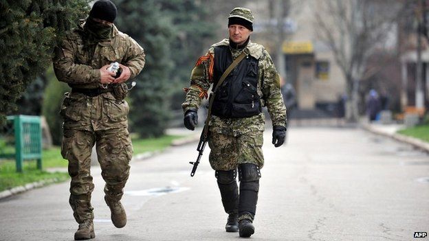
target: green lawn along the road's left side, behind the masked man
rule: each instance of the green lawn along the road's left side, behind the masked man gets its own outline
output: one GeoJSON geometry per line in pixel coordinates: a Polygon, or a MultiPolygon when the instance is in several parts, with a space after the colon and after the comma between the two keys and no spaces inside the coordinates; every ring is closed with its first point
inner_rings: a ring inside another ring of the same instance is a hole
{"type": "MultiPolygon", "coordinates": [[[[148,139],[133,139],[134,155],[144,152],[164,150],[171,145],[174,139],[179,139],[182,136],[164,135],[159,138],[148,139]]],[[[46,172],[46,168],[67,168],[67,160],[61,157],[61,148],[53,147],[49,150],[43,150],[42,161],[43,169],[36,169],[36,161],[24,161],[22,173],[15,172],[15,161],[0,161],[0,192],[8,190],[12,187],[25,185],[46,179],[56,179],[57,181],[65,181],[69,179],[67,172],[46,172]]]]}

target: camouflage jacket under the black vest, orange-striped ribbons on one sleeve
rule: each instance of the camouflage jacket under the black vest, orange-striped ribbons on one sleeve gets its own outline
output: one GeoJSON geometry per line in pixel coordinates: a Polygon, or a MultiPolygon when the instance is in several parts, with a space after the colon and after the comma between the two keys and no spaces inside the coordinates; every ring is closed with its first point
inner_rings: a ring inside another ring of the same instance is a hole
{"type": "MultiPolygon", "coordinates": [[[[190,87],[186,89],[186,100],[182,104],[184,112],[199,108],[201,99],[207,97],[208,89],[212,85],[212,62],[214,47],[219,45],[229,45],[229,40],[216,43],[208,49],[205,56],[197,61],[190,76],[190,87]]],[[[273,126],[286,126],[286,108],[280,90],[280,77],[274,67],[270,54],[262,45],[249,41],[245,47],[251,56],[259,60],[259,76],[257,92],[261,96],[262,106],[267,106],[268,113],[272,119],[273,126]]],[[[232,49],[232,58],[236,58],[244,49],[232,49]]],[[[264,130],[265,117],[263,113],[245,118],[221,118],[212,116],[210,119],[210,131],[223,133],[225,135],[241,135],[255,130],[264,130]]]]}

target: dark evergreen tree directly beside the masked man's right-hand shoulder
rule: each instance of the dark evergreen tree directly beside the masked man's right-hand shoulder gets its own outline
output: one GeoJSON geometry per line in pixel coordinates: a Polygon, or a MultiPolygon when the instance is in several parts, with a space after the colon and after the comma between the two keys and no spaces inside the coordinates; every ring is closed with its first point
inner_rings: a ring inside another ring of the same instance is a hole
{"type": "Polygon", "coordinates": [[[114,1],[118,8],[115,24],[145,50],[146,65],[130,91],[130,128],[141,137],[157,137],[168,124],[168,77],[173,67],[170,43],[173,26],[159,1],[114,1]]]}

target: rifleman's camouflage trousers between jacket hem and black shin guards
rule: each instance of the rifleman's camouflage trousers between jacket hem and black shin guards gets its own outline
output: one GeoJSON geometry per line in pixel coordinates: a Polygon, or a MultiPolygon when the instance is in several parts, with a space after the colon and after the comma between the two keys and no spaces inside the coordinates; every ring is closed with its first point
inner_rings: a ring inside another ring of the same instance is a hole
{"type": "Polygon", "coordinates": [[[252,163],[263,167],[263,131],[250,131],[239,136],[210,132],[209,161],[213,170],[235,170],[240,164],[252,163]]]}

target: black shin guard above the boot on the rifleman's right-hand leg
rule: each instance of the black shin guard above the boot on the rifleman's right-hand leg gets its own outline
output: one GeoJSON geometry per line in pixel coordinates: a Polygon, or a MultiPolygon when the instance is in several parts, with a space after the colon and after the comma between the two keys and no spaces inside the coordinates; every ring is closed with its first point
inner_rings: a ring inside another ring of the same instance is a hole
{"type": "Polygon", "coordinates": [[[239,165],[240,198],[239,215],[250,214],[253,218],[258,202],[259,179],[261,172],[254,164],[239,165]]]}

